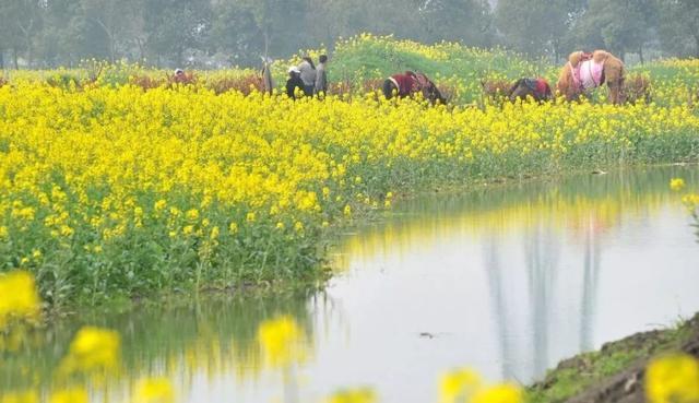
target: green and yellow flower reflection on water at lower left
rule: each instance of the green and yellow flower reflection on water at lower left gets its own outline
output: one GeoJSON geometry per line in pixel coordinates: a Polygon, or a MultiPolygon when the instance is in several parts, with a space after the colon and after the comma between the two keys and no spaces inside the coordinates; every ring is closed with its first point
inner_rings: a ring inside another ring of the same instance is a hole
{"type": "MultiPolygon", "coordinates": [[[[287,317],[301,328],[298,337],[304,356],[313,356],[311,301],[322,294],[303,293],[247,298],[210,297],[174,307],[135,312],[86,315],[59,321],[35,332],[31,345],[4,353],[0,361],[0,398],[9,391],[38,390],[43,395],[66,387],[86,387],[97,401],[130,401],[139,380],[165,378],[173,381],[178,395],[213,384],[216,379],[237,389],[257,388],[269,381],[273,366],[264,360],[258,342],[260,323],[287,317]],[[121,363],[107,382],[61,379],[59,363],[72,336],[84,324],[118,330],[121,363]],[[202,382],[203,380],[203,382],[202,382]]],[[[295,367],[283,374],[285,402],[298,401],[295,367]]],[[[274,381],[276,382],[276,381],[274,381]]]]}

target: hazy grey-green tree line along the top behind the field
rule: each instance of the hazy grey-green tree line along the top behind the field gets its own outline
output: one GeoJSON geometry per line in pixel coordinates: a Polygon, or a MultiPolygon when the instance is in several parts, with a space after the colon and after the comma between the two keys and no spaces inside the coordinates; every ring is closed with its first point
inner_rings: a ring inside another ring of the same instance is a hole
{"type": "Polygon", "coordinates": [[[556,61],[595,48],[643,61],[699,56],[699,1],[2,0],[0,68],[91,58],[251,66],[362,32],[499,45],[556,61]]]}

